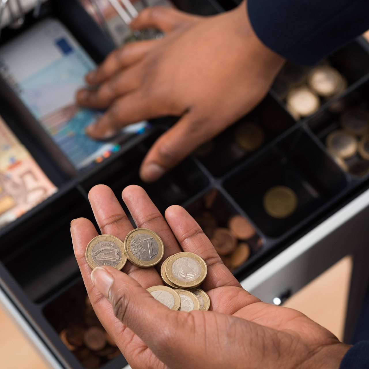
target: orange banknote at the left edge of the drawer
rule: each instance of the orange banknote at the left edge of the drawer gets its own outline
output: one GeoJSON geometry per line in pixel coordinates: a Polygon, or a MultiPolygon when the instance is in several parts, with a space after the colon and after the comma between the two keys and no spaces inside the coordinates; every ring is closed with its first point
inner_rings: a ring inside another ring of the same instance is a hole
{"type": "Polygon", "coordinates": [[[56,190],[30,152],[0,117],[0,228],[56,190]]]}

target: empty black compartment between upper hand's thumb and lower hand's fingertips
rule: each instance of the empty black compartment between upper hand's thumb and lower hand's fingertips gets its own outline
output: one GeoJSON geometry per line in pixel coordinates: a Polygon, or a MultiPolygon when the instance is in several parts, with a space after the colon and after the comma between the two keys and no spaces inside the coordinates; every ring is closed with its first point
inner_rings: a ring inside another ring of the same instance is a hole
{"type": "Polygon", "coordinates": [[[129,184],[138,184],[146,190],[162,213],[168,206],[182,204],[204,189],[209,179],[191,158],[185,159],[157,182],[142,182],[139,178],[139,167],[142,159],[161,133],[162,131],[153,132],[147,139],[84,180],[82,187],[88,192],[95,184],[104,183],[113,189],[115,196],[124,205],[121,198],[122,190],[129,184]]]}

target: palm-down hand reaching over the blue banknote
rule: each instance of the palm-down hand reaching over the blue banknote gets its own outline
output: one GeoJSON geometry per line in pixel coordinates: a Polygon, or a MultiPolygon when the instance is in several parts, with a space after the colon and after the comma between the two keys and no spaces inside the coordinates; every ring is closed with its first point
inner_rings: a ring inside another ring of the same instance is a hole
{"type": "Polygon", "coordinates": [[[86,76],[96,88],[80,90],[77,101],[86,107],[107,108],[86,130],[97,139],[137,121],[180,117],[144,159],[140,175],[147,182],[252,110],[284,62],[256,37],[245,1],[212,17],[147,8],[131,27],[154,27],[166,35],[113,51],[86,76]]]}

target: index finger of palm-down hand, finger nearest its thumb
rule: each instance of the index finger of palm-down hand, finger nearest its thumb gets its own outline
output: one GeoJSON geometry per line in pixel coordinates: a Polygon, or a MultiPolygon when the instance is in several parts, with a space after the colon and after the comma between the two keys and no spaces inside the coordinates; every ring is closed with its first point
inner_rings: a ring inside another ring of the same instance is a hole
{"type": "Polygon", "coordinates": [[[116,135],[125,125],[156,118],[158,114],[147,96],[133,92],[116,99],[96,123],[86,127],[86,134],[94,139],[107,139],[116,135]]]}

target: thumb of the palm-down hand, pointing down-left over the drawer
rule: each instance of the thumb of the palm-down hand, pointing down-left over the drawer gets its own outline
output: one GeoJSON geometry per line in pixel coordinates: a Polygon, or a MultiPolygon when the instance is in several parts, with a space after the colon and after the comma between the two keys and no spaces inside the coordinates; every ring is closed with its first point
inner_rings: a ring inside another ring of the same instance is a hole
{"type": "Polygon", "coordinates": [[[145,182],[154,182],[172,169],[211,134],[192,112],[185,114],[169,131],[161,135],[141,164],[140,176],[145,182]]]}

